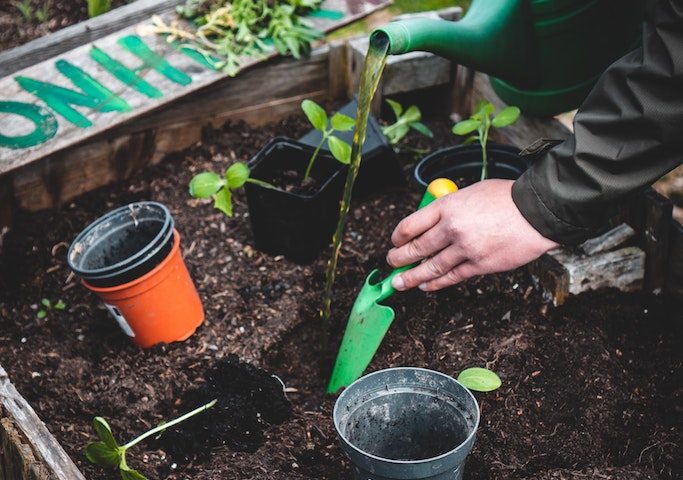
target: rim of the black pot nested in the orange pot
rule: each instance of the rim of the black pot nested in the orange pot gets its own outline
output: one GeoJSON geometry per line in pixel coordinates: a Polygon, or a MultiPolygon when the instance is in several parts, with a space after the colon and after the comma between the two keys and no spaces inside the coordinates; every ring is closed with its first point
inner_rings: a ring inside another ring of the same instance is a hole
{"type": "Polygon", "coordinates": [[[149,201],[149,200],[143,200],[140,202],[132,202],[127,205],[123,205],[121,207],[115,208],[114,210],[111,210],[107,212],[106,214],[102,215],[101,217],[95,219],[93,222],[91,222],[88,226],[86,226],[81,232],[74,238],[74,240],[71,242],[71,245],[69,245],[69,250],[67,251],[66,254],[66,260],[67,263],[69,264],[69,268],[74,271],[79,277],[82,279],[93,279],[93,280],[99,280],[102,278],[107,278],[111,276],[116,276],[120,273],[123,273],[127,271],[128,269],[132,268],[135,264],[138,263],[138,261],[142,258],[144,258],[146,255],[150,254],[151,252],[156,252],[158,248],[162,248],[168,241],[169,239],[173,236],[173,231],[175,228],[175,224],[173,221],[173,216],[171,215],[171,211],[168,209],[166,205],[160,202],[155,202],[155,201],[149,201]],[[97,228],[98,225],[102,224],[103,222],[106,222],[110,220],[111,218],[115,217],[116,215],[119,215],[126,210],[131,210],[135,208],[136,206],[150,206],[150,207],[155,207],[161,210],[161,212],[164,215],[163,219],[163,224],[157,234],[154,236],[152,240],[150,240],[147,245],[145,245],[143,248],[141,248],[139,251],[137,251],[135,254],[131,255],[130,257],[126,258],[125,260],[122,260],[120,262],[117,262],[113,265],[109,265],[106,267],[102,268],[96,268],[96,269],[83,269],[79,268],[78,266],[75,265],[75,263],[72,261],[72,255],[74,253],[74,248],[75,246],[83,241],[89,233],[91,233],[95,228],[97,228]]]}

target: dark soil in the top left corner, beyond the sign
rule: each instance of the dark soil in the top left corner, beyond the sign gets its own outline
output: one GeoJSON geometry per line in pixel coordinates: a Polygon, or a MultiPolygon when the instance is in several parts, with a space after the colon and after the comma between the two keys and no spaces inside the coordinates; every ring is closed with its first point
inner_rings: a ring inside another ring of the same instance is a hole
{"type": "MultiPolygon", "coordinates": [[[[112,0],[112,8],[135,0],[112,0]]],[[[85,0],[0,0],[0,51],[88,19],[85,0]],[[17,4],[30,5],[22,13],[17,4]]]]}

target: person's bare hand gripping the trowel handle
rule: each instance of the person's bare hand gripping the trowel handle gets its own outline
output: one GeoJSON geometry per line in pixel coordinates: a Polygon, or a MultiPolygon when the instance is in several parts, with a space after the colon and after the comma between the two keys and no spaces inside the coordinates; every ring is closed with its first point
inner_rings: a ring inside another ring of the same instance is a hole
{"type": "Polygon", "coordinates": [[[422,263],[394,277],[396,290],[439,290],[475,275],[525,265],[558,246],[512,201],[512,180],[484,180],[404,218],[387,255],[392,267],[422,263]]]}

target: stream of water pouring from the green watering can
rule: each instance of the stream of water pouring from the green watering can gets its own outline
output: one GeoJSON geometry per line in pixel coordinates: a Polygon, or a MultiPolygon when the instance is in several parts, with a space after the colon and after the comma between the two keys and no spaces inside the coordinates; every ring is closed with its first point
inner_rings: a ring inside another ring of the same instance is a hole
{"type": "Polygon", "coordinates": [[[370,115],[370,105],[372,103],[372,97],[375,96],[375,92],[377,91],[379,80],[384,71],[384,66],[387,63],[388,51],[389,39],[387,37],[379,35],[370,38],[368,53],[365,55],[365,63],[363,64],[358,91],[358,111],[356,113],[356,131],[353,135],[353,145],[351,148],[351,164],[349,165],[349,172],[346,176],[346,184],[344,185],[344,196],[342,197],[340,204],[339,223],[337,224],[337,229],[332,237],[332,256],[328,262],[325,276],[325,292],[323,295],[322,309],[322,317],[325,322],[329,322],[330,319],[332,287],[334,286],[334,279],[337,272],[337,261],[339,259],[342,237],[344,236],[346,217],[349,213],[351,192],[353,191],[353,185],[356,181],[356,176],[358,175],[358,169],[360,168],[361,153],[363,151],[363,143],[365,142],[365,130],[368,125],[368,116],[370,115]]]}

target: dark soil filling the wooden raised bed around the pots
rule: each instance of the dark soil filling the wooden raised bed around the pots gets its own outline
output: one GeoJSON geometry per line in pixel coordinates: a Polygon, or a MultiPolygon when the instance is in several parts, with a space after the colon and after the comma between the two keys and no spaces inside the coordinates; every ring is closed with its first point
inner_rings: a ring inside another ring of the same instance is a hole
{"type": "MultiPolygon", "coordinates": [[[[436,139],[411,142],[429,149],[453,142],[448,122],[428,123],[436,139]]],[[[177,440],[169,432],[138,445],[131,466],[178,480],[349,478],[331,420],[334,398],[323,391],[358,287],[384,265],[390,232],[420,192],[354,200],[325,342],[317,313],[325,258],[298,266],[256,251],[243,193],[227,218],[186,188],[202,170],[222,171],[272,136],[296,138],[305,129],[301,118],[253,130],[227,125],[132,181],[26,214],[4,236],[0,363],[87,478],[117,478],[83,458],[94,415],[127,441],[214,395],[231,400],[179,428],[177,440]],[[64,258],[93,219],[143,199],[171,209],[207,311],[188,341],[147,351],[128,341],[64,258]],[[67,309],[39,320],[43,297],[61,298],[67,309]],[[286,384],[291,412],[270,374],[286,384]]],[[[477,395],[482,421],[467,479],[681,478],[680,307],[599,291],[553,308],[525,270],[396,295],[391,304],[396,320],[369,370],[414,365],[455,376],[485,366],[503,380],[477,395]]]]}

